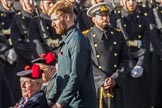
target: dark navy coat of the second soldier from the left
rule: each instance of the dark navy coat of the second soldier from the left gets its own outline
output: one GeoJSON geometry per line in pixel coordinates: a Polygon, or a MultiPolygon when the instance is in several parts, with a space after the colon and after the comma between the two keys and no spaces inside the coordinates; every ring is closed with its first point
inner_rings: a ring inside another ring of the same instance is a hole
{"type": "MultiPolygon", "coordinates": [[[[24,67],[26,65],[30,65],[31,60],[34,59],[31,50],[31,48],[34,46],[32,46],[28,41],[28,28],[32,17],[33,16],[31,14],[22,10],[14,16],[11,24],[11,40],[13,43],[13,48],[15,49],[15,52],[17,54],[17,61],[15,64],[14,73],[22,71],[24,67]],[[20,19],[21,21],[19,21],[18,19],[20,19]],[[23,28],[26,29],[20,30],[20,26],[23,26],[23,28]]],[[[18,77],[15,76],[14,78],[14,97],[15,101],[17,102],[21,98],[21,90],[19,84],[20,81],[18,77]]]]}

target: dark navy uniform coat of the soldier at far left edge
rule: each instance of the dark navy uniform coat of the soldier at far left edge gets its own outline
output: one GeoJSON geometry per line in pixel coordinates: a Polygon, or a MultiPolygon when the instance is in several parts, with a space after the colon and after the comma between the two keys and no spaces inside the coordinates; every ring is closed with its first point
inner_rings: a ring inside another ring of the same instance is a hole
{"type": "Polygon", "coordinates": [[[9,83],[13,79],[12,69],[11,65],[6,61],[8,50],[11,48],[8,39],[10,38],[12,17],[13,13],[11,11],[0,6],[0,31],[8,31],[7,34],[0,33],[0,56],[3,58],[0,57],[0,108],[8,108],[15,104],[9,83]]]}

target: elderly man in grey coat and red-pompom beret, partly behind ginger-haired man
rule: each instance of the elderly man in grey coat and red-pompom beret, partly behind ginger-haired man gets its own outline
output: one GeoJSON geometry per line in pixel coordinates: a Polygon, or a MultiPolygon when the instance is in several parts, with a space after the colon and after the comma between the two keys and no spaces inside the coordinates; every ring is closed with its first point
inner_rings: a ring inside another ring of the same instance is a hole
{"type": "Polygon", "coordinates": [[[52,52],[41,54],[40,58],[32,60],[32,63],[39,65],[42,70],[43,84],[41,90],[45,92],[46,98],[48,98],[56,80],[56,55],[52,52]]]}

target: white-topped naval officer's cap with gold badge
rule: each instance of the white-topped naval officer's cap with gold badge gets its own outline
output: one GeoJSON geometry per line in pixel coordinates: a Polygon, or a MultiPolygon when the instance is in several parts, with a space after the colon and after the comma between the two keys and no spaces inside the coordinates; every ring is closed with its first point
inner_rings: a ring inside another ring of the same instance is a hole
{"type": "Polygon", "coordinates": [[[87,11],[87,15],[89,17],[93,17],[95,15],[108,15],[111,11],[111,7],[108,3],[102,2],[90,7],[87,11]]]}

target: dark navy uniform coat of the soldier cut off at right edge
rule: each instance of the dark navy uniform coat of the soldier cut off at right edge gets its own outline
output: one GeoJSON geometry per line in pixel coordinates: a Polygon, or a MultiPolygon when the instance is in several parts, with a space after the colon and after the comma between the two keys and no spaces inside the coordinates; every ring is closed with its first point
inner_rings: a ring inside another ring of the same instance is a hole
{"type": "MultiPolygon", "coordinates": [[[[162,20],[162,6],[156,7],[157,14],[159,15],[159,19],[162,20]]],[[[160,22],[156,22],[157,16],[150,11],[150,21],[153,26],[153,30],[155,30],[155,35],[150,37],[153,50],[152,50],[152,61],[151,61],[151,105],[156,107],[162,106],[162,28],[159,29],[157,24],[160,22]]]]}

